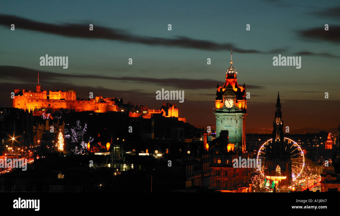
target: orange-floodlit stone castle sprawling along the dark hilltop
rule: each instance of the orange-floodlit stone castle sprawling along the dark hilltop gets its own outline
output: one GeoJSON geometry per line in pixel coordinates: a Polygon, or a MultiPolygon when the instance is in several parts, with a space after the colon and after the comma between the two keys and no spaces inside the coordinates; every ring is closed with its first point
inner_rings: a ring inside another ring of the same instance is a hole
{"type": "MultiPolygon", "coordinates": [[[[33,111],[33,115],[38,116],[45,116],[48,109],[68,109],[75,112],[94,111],[96,113],[126,111],[124,104],[122,104],[122,98],[103,98],[102,96],[97,96],[94,99],[77,99],[75,91],[68,86],[65,92],[58,90],[55,92],[49,91],[47,94],[46,90],[41,89],[39,79],[34,92],[27,89],[22,89],[21,91],[20,89],[14,90],[13,107],[33,111]]],[[[129,117],[151,118],[154,114],[162,114],[164,117],[178,118],[178,108],[175,103],[163,103],[159,110],[149,110],[147,106],[138,105],[132,110],[129,112],[129,117]]],[[[185,118],[178,118],[178,120],[186,122],[185,118]]]]}

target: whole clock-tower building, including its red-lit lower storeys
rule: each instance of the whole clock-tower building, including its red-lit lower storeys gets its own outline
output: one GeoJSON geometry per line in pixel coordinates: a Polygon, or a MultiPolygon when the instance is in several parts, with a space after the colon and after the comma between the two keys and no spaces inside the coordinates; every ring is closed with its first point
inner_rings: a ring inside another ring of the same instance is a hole
{"type": "Polygon", "coordinates": [[[245,148],[245,85],[238,85],[233,61],[230,64],[224,85],[216,87],[216,138],[208,144],[208,133],[203,133],[203,145],[210,154],[210,188],[221,192],[251,192],[250,168],[233,167],[234,158],[249,158],[250,154],[245,148]]]}

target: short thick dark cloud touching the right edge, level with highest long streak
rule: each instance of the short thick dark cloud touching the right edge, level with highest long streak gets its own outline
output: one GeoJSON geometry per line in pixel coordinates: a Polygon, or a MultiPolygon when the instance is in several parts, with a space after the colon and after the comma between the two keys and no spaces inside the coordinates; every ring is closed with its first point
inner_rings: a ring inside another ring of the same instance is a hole
{"type": "Polygon", "coordinates": [[[325,31],[324,26],[299,31],[299,35],[305,39],[317,39],[333,43],[340,43],[340,26],[329,24],[329,30],[325,31]]]}

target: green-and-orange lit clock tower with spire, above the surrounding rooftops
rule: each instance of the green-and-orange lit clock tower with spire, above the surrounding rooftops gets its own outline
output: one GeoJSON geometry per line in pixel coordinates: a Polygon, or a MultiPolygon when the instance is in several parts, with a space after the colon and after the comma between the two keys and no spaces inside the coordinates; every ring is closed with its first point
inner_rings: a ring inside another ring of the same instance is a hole
{"type": "MultiPolygon", "coordinates": [[[[232,59],[233,60],[233,51],[232,59]]],[[[229,143],[235,144],[236,149],[245,152],[245,117],[246,98],[245,84],[237,83],[237,72],[233,67],[233,61],[225,74],[225,83],[220,86],[217,83],[215,99],[216,138],[222,130],[229,131],[229,143]]]]}

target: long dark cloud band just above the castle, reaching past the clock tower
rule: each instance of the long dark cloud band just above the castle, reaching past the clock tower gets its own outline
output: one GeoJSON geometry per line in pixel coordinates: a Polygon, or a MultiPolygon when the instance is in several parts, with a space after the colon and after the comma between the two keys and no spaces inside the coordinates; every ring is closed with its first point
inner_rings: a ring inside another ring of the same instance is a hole
{"type": "MultiPolygon", "coordinates": [[[[136,83],[152,83],[159,86],[173,86],[175,88],[181,89],[211,89],[215,88],[219,81],[210,80],[210,79],[202,79],[202,80],[194,80],[194,79],[179,79],[179,78],[165,78],[165,79],[156,79],[156,78],[145,78],[145,77],[107,77],[100,75],[89,75],[89,74],[64,74],[64,73],[55,73],[55,72],[46,72],[33,70],[24,67],[15,67],[15,66],[0,66],[0,73],[3,79],[7,80],[15,80],[19,82],[30,82],[37,83],[37,74],[39,73],[40,80],[44,80],[44,83],[55,83],[50,82],[49,80],[57,80],[58,82],[63,82],[63,80],[69,80],[72,78],[83,78],[83,79],[102,79],[102,80],[117,80],[121,82],[136,82],[136,83]]],[[[265,88],[264,86],[258,85],[246,85],[246,88],[265,88]]]]}

